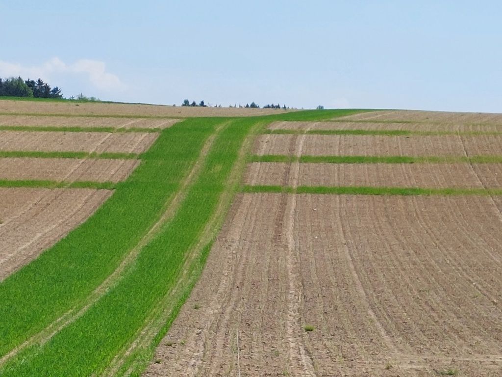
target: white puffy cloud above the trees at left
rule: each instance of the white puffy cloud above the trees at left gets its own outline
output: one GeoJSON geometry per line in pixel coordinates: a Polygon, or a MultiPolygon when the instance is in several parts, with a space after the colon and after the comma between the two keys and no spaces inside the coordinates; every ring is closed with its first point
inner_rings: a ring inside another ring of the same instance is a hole
{"type": "MultiPolygon", "coordinates": [[[[21,76],[23,78],[42,78],[52,81],[60,76],[85,78],[94,88],[104,92],[116,92],[126,88],[117,75],[106,71],[106,64],[99,60],[80,59],[66,64],[54,57],[39,66],[23,66],[0,60],[0,77],[21,76]]],[[[57,84],[57,82],[55,82],[57,84]]]]}

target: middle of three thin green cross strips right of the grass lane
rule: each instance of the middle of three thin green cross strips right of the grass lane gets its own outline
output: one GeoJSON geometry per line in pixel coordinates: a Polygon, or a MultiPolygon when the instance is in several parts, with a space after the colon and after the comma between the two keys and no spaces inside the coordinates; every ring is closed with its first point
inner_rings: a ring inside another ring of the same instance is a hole
{"type": "Polygon", "coordinates": [[[253,155],[249,162],[303,162],[303,163],[336,163],[336,164],[412,164],[412,163],[502,163],[502,155],[494,156],[311,156],[300,158],[288,155],[253,155]]]}

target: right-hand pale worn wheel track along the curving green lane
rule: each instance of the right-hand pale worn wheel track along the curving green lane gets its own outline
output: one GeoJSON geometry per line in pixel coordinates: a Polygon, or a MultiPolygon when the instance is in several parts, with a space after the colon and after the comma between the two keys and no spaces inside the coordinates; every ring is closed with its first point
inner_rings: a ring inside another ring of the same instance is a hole
{"type": "Polygon", "coordinates": [[[150,364],[151,355],[169,331],[170,325],[176,319],[179,310],[181,310],[202,273],[205,258],[202,260],[201,265],[197,265],[197,259],[200,258],[201,254],[205,253],[205,256],[207,256],[210,252],[210,248],[225,221],[233,198],[239,191],[247,155],[253,147],[259,128],[264,125],[263,122],[257,122],[245,137],[237,159],[225,182],[225,189],[218,200],[217,208],[211,220],[206,223],[197,244],[186,254],[179,275],[176,277],[176,284],[161,299],[157,307],[152,309],[145,321],[145,326],[138,331],[138,337],[127,348],[124,347],[121,352],[117,353],[107,367],[108,370],[103,373],[103,377],[129,376],[133,372],[143,371],[150,364]],[[142,352],[147,355],[135,357],[135,354],[141,355],[142,352]]]}

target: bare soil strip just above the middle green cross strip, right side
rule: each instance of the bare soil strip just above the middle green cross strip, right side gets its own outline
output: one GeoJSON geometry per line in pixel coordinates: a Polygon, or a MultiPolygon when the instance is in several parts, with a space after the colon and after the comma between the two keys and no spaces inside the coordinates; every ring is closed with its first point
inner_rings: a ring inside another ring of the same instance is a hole
{"type": "MultiPolygon", "coordinates": [[[[346,156],[465,156],[470,154],[494,154],[490,150],[502,150],[502,137],[455,135],[444,136],[375,136],[375,135],[303,135],[302,154],[346,156]]],[[[255,153],[293,155],[298,135],[260,135],[255,143],[255,153]]]]}

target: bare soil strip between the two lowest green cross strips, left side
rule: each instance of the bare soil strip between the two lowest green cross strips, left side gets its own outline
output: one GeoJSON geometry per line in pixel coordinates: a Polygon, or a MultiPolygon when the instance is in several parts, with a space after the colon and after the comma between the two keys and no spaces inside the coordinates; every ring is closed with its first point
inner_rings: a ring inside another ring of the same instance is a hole
{"type": "Polygon", "coordinates": [[[0,158],[0,179],[119,182],[138,160],[77,158],[0,158]]]}

